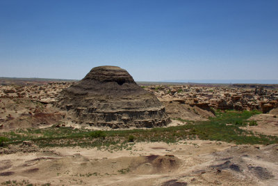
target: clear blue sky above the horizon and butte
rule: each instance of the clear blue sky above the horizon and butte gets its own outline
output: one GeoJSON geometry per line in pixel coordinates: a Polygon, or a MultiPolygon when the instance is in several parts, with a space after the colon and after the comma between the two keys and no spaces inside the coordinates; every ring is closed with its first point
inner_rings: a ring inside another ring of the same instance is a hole
{"type": "Polygon", "coordinates": [[[0,77],[278,79],[278,1],[0,0],[0,77]]]}

